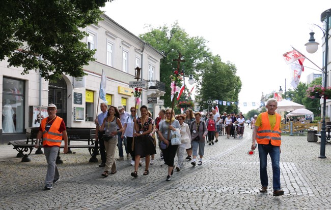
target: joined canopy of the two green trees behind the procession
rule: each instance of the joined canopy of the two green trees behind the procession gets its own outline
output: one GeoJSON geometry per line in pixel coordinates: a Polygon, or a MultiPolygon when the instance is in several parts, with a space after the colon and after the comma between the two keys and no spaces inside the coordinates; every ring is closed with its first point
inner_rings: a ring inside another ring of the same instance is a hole
{"type": "MultiPolygon", "coordinates": [[[[149,30],[139,37],[166,55],[160,61],[160,81],[166,84],[166,94],[163,96],[165,107],[171,107],[171,80],[169,77],[177,68],[177,61],[173,61],[173,59],[178,59],[179,53],[185,60],[185,62],[181,62],[181,65],[185,67],[185,76],[192,74],[200,86],[196,86],[196,92],[199,95],[196,96],[196,101],[200,103],[202,108],[206,109],[205,101],[209,97],[238,101],[241,81],[239,77],[235,76],[236,67],[232,63],[222,62],[219,56],[213,56],[206,46],[207,41],[204,38],[190,37],[179,26],[178,22],[175,22],[171,27],[163,25],[153,28],[150,26],[149,30]],[[235,87],[226,88],[222,82],[232,83],[235,87]]],[[[227,107],[226,109],[227,111],[234,111],[235,108],[227,107]]]]}

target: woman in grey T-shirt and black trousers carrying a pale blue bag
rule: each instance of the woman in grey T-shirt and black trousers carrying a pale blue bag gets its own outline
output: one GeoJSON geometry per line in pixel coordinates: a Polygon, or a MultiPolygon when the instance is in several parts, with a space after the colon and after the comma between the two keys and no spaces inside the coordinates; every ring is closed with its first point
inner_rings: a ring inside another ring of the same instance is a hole
{"type": "Polygon", "coordinates": [[[175,131],[180,128],[178,120],[175,119],[175,112],[171,109],[166,110],[166,120],[159,125],[158,135],[159,138],[167,145],[167,148],[162,150],[163,160],[168,165],[167,181],[171,180],[171,176],[174,172],[174,159],[178,145],[171,145],[171,130],[175,131]],[[171,123],[170,123],[171,121],[171,123]]]}

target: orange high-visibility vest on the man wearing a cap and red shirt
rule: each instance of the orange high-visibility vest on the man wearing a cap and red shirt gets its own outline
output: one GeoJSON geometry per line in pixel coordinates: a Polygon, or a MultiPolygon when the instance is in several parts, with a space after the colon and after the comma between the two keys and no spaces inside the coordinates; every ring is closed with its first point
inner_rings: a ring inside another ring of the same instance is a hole
{"type": "Polygon", "coordinates": [[[52,146],[60,147],[62,142],[62,133],[59,132],[59,128],[62,122],[62,118],[57,116],[53,124],[50,126],[48,132],[47,130],[45,130],[47,119],[48,117],[41,121],[43,146],[47,145],[50,147],[52,146]]]}

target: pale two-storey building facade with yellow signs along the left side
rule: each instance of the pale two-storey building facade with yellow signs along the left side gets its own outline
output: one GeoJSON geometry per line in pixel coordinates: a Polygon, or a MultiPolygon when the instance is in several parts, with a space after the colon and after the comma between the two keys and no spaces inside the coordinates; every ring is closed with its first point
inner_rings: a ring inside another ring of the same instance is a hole
{"type": "MultiPolygon", "coordinates": [[[[141,79],[146,81],[142,102],[155,118],[159,104],[149,103],[165,93],[164,83],[159,82],[160,59],[164,56],[106,15],[97,25],[82,29],[89,36],[82,40],[90,49],[97,49],[96,60],[84,66],[87,76],[73,78],[62,75],[56,83],[45,81],[39,73],[31,71],[21,75],[22,68],[8,67],[8,61],[0,62],[0,100],[2,102],[0,143],[24,139],[25,130],[39,127],[37,116],[47,116],[47,104],[54,103],[57,115],[70,128],[95,128],[94,119],[100,113],[98,104],[102,70],[107,77],[106,99],[108,106],[123,105],[126,111],[134,107],[134,97],[129,88],[136,81],[135,67],[142,68],[141,79]],[[98,110],[98,111],[97,111],[98,110]]],[[[99,103],[101,102],[101,99],[99,103]]]]}

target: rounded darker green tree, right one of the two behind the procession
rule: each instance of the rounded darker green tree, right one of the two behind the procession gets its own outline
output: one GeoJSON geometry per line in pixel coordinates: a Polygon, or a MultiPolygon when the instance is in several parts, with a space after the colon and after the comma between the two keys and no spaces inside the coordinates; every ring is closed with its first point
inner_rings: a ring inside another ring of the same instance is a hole
{"type": "MultiPolygon", "coordinates": [[[[241,80],[236,76],[236,66],[230,62],[224,63],[220,57],[212,56],[206,60],[203,66],[201,80],[198,81],[200,88],[197,90],[196,99],[199,100],[200,108],[208,109],[207,99],[226,101],[238,101],[241,90],[241,80]]],[[[220,113],[238,113],[236,104],[231,106],[218,106],[220,113]]]]}

